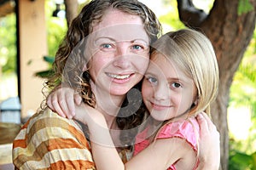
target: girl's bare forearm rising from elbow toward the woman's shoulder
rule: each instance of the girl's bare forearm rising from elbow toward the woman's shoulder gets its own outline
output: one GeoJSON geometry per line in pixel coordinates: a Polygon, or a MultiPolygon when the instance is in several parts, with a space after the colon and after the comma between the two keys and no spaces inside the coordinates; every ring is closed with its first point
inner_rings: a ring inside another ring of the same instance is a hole
{"type": "Polygon", "coordinates": [[[74,118],[89,127],[90,146],[97,170],[125,169],[109,133],[105,117],[88,105],[76,105],[74,118]]]}

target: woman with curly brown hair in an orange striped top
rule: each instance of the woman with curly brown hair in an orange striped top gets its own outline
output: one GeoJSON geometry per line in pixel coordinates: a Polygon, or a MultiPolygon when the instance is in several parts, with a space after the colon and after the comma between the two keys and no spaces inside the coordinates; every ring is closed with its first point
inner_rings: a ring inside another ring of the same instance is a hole
{"type": "MultiPolygon", "coordinates": [[[[121,139],[120,129],[136,126],[129,122],[143,116],[127,119],[116,115],[127,92],[142,80],[148,67],[149,44],[159,32],[159,21],[143,3],[91,1],[69,27],[55,56],[55,75],[47,82],[49,88],[60,87],[60,82],[70,86],[86,104],[104,114],[108,127],[117,129],[112,137],[124,161],[131,154],[121,146],[130,139],[121,139]]],[[[95,169],[86,132],[83,124],[44,108],[26,122],[14,141],[15,167],[95,169]]]]}

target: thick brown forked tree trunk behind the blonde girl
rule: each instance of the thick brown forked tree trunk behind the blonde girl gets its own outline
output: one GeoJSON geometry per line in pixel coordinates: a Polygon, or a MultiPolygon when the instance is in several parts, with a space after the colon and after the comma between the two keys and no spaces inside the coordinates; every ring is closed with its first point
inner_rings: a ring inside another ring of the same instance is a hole
{"type": "Polygon", "coordinates": [[[230,86],[243,54],[253,37],[256,20],[256,1],[253,10],[238,15],[239,0],[215,0],[209,14],[195,8],[190,0],[177,0],[180,20],[186,26],[203,31],[212,41],[220,71],[218,97],[212,104],[212,120],[220,132],[221,166],[228,169],[229,131],[227,107],[230,86]]]}

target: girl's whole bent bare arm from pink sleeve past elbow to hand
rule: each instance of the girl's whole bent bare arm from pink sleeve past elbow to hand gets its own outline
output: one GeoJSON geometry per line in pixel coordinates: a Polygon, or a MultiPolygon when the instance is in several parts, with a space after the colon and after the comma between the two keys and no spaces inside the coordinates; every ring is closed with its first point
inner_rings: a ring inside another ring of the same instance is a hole
{"type": "Polygon", "coordinates": [[[147,149],[134,156],[125,165],[121,161],[109,133],[104,116],[87,105],[76,107],[74,118],[86,123],[90,131],[90,144],[96,168],[102,169],[163,169],[166,170],[177,160],[177,168],[188,169],[195,166],[196,153],[184,140],[178,138],[157,139],[147,149]],[[81,107],[82,106],[82,107],[81,107]],[[84,116],[84,111],[87,112],[84,116]],[[185,166],[185,167],[182,167],[185,166]]]}

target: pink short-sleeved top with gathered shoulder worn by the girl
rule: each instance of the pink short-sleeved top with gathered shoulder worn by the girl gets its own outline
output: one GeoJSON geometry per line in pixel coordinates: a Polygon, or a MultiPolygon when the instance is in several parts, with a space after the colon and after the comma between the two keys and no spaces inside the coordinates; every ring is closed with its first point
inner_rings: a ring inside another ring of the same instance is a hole
{"type": "MultiPolygon", "coordinates": [[[[197,136],[199,135],[200,127],[198,122],[194,117],[189,118],[189,120],[182,120],[178,122],[166,123],[160,128],[155,139],[168,139],[168,138],[181,138],[186,139],[186,141],[191,145],[191,147],[197,152],[197,136]]],[[[142,133],[138,133],[136,137],[136,143],[134,146],[133,156],[136,156],[140,151],[144,150],[150,144],[147,138],[148,128],[146,128],[142,133]],[[141,141],[141,142],[139,142],[141,141]]],[[[199,160],[193,169],[198,166],[199,160]]],[[[175,164],[170,165],[168,170],[176,170],[175,164]]]]}

